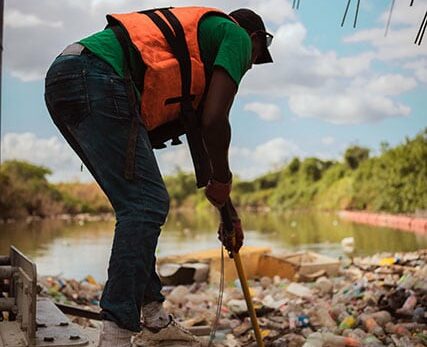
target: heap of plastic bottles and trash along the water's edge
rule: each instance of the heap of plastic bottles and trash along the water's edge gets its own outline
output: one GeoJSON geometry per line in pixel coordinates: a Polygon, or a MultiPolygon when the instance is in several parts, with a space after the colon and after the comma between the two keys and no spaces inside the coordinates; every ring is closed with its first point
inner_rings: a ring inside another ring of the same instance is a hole
{"type": "MultiPolygon", "coordinates": [[[[102,286],[89,276],[41,282],[55,300],[97,308],[102,286]]],[[[249,286],[266,346],[427,346],[427,250],[343,259],[338,276],[312,282],[275,276],[249,286]]],[[[217,286],[166,286],[164,292],[167,311],[209,335],[217,286]]],[[[224,290],[215,346],[256,346],[238,281],[224,290]]]]}

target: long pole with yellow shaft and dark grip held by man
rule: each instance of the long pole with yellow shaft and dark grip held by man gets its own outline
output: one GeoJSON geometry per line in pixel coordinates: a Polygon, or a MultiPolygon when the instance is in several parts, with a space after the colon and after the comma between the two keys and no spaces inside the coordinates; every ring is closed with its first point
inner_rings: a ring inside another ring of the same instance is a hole
{"type": "MultiPolygon", "coordinates": [[[[231,200],[225,203],[224,207],[221,208],[221,218],[227,232],[233,233],[233,245],[235,243],[235,234],[233,230],[233,220],[231,211],[233,210],[231,200]]],[[[245,272],[243,270],[242,261],[240,259],[239,252],[231,252],[231,257],[234,259],[234,264],[236,265],[237,274],[239,275],[240,284],[242,285],[243,295],[246,300],[246,306],[248,306],[249,317],[251,318],[252,328],[254,329],[255,338],[257,341],[258,347],[264,347],[264,342],[262,341],[261,331],[259,330],[258,320],[255,313],[255,308],[252,303],[251,293],[249,292],[248,282],[246,280],[245,272]]]]}

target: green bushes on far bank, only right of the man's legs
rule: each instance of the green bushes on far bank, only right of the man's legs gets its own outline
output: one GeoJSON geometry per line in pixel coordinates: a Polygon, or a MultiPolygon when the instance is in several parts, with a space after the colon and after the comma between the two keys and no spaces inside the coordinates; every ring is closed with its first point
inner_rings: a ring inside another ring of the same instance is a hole
{"type": "MultiPolygon", "coordinates": [[[[369,157],[369,149],[351,146],[343,162],[294,158],[281,170],[253,181],[234,180],[236,205],[258,209],[357,209],[413,213],[427,209],[427,129],[395,148],[381,144],[381,155],[369,157]]],[[[184,187],[193,175],[168,177],[169,187],[184,187]]],[[[177,205],[200,201],[194,188],[183,192],[177,205]]],[[[200,193],[198,193],[200,196],[200,193]]]]}

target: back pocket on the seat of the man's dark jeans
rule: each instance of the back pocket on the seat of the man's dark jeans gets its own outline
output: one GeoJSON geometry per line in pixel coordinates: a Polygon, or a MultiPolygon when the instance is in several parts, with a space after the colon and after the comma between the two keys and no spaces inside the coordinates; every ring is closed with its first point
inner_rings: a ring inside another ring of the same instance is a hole
{"type": "Polygon", "coordinates": [[[46,78],[45,100],[51,117],[77,126],[90,114],[84,71],[46,78]]]}

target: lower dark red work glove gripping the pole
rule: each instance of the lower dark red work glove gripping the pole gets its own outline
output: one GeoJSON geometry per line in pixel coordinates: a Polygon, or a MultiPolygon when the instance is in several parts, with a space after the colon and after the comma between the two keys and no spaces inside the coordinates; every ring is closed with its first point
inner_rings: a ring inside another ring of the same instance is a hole
{"type": "Polygon", "coordinates": [[[224,211],[227,218],[231,219],[233,230],[227,230],[224,220],[221,220],[218,229],[218,239],[222,242],[228,254],[232,258],[233,253],[237,253],[243,245],[243,228],[242,222],[240,221],[237,211],[234,208],[231,200],[227,201],[226,206],[221,209],[221,218],[224,218],[224,211]],[[223,210],[224,209],[224,210],[223,210]]]}

